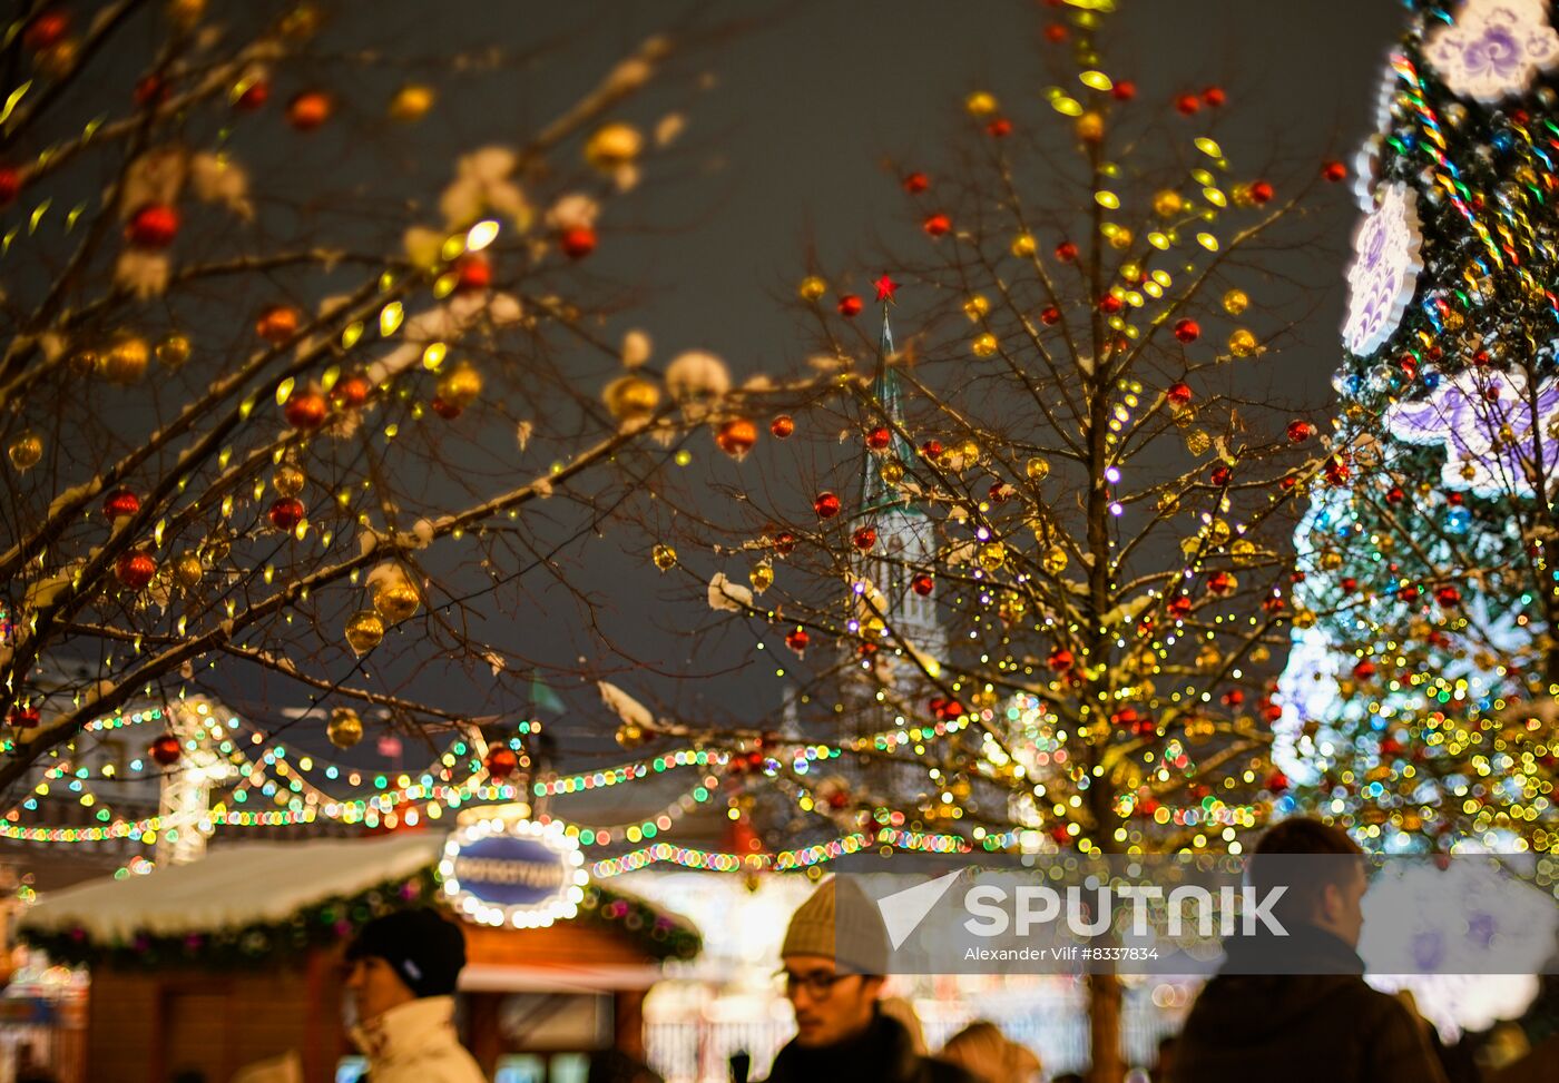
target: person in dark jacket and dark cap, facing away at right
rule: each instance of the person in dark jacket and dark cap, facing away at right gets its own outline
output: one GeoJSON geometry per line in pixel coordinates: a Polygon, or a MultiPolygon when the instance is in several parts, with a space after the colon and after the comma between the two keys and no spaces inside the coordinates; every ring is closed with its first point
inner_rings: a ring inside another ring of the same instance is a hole
{"type": "Polygon", "coordinates": [[[1171,1083],[1445,1083],[1408,1010],[1364,983],[1363,851],[1319,820],[1285,820],[1250,862],[1286,937],[1232,937],[1175,1046],[1171,1083]],[[1303,854],[1300,862],[1275,859],[1303,854]]]}

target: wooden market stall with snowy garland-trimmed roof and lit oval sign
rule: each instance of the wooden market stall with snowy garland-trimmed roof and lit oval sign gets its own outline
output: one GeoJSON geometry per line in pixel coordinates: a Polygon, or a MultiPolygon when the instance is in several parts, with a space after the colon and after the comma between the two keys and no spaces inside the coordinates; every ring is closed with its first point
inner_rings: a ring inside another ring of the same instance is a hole
{"type": "Polygon", "coordinates": [[[61,891],[22,935],[90,971],[81,1083],[218,1083],[287,1050],[307,1083],[335,1083],[354,1075],[341,947],[426,902],[466,922],[461,1036],[497,1080],[583,1078],[591,1050],[639,1052],[645,990],[700,946],[681,918],[589,884],[558,832],[496,820],[447,838],[215,849],[61,891]]]}

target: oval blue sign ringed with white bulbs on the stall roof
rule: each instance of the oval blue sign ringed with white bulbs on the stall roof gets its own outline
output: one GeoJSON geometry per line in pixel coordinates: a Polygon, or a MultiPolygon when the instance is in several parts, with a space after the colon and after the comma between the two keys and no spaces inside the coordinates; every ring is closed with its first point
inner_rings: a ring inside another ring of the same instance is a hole
{"type": "Polygon", "coordinates": [[[444,896],[483,926],[543,929],[578,913],[589,876],[578,841],[561,823],[479,820],[444,843],[444,896]]]}

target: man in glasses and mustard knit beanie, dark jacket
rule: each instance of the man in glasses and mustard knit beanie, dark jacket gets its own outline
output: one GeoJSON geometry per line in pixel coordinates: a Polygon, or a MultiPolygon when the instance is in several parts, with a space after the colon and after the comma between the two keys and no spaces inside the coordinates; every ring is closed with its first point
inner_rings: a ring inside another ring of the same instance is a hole
{"type": "Polygon", "coordinates": [[[801,904],[780,947],[797,1035],[769,1083],[974,1083],[917,1053],[904,1024],[878,1010],[887,954],[882,916],[853,880],[831,877],[801,904]]]}

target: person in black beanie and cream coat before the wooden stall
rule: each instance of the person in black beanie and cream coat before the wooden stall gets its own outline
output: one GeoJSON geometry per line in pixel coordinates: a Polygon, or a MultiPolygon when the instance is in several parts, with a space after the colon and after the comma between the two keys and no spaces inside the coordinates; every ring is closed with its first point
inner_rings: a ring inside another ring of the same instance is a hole
{"type": "Polygon", "coordinates": [[[371,1083],[486,1083],[455,1033],[455,980],[466,965],[460,927],[435,910],[374,918],[348,946],[352,1041],[371,1083]]]}

